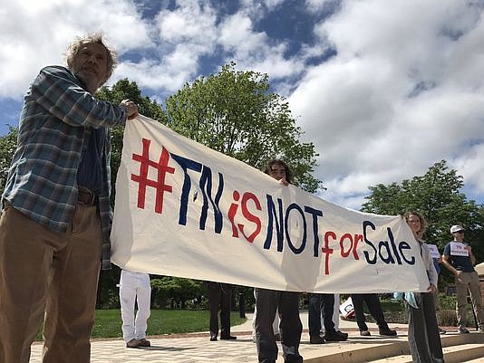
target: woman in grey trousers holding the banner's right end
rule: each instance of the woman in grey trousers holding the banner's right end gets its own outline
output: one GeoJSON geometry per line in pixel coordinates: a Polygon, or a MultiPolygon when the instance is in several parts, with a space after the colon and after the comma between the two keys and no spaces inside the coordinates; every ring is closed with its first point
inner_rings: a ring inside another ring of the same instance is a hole
{"type": "Polygon", "coordinates": [[[406,293],[409,308],[409,345],[415,363],[443,363],[439,326],[435,316],[433,293],[437,290],[438,275],[431,258],[431,251],[421,240],[425,232],[425,220],[417,212],[403,215],[420,246],[421,258],[431,285],[427,292],[406,293]]]}

